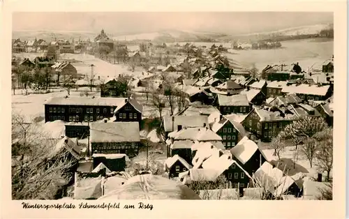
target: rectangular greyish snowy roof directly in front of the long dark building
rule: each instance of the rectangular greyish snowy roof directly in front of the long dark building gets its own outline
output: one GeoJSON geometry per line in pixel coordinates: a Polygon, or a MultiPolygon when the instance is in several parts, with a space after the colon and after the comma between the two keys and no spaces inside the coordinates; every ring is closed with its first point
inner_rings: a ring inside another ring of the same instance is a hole
{"type": "Polygon", "coordinates": [[[90,142],[140,142],[139,123],[91,123],[90,142]]]}

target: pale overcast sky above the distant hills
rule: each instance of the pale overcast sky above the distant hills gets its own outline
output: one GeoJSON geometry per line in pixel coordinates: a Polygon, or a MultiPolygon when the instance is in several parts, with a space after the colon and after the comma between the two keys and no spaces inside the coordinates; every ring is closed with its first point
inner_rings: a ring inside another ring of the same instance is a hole
{"type": "Polygon", "coordinates": [[[215,33],[256,33],[332,23],[332,13],[13,13],[14,31],[151,33],[176,29],[215,33]]]}

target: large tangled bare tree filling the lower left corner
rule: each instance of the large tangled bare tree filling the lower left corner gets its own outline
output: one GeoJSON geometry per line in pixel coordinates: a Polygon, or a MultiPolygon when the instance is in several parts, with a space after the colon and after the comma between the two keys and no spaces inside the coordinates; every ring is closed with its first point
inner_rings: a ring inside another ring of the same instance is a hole
{"type": "Polygon", "coordinates": [[[35,123],[13,115],[12,195],[13,199],[54,199],[57,190],[71,180],[77,160],[68,151],[52,153],[55,141],[45,141],[35,123]],[[15,152],[15,153],[14,153],[15,152]]]}

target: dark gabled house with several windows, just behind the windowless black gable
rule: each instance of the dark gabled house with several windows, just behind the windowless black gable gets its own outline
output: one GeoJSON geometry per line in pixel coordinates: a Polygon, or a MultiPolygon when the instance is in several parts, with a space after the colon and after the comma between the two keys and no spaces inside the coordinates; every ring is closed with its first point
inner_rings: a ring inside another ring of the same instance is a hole
{"type": "Polygon", "coordinates": [[[211,130],[222,137],[222,143],[226,149],[234,147],[246,135],[241,123],[223,115],[214,118],[211,130]]]}

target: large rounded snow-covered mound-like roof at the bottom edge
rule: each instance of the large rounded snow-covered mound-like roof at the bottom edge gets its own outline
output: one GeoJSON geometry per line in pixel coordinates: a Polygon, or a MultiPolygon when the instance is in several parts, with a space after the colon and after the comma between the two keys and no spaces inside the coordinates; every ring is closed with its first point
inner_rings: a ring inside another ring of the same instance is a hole
{"type": "Polygon", "coordinates": [[[131,177],[124,185],[118,186],[99,199],[200,199],[200,197],[179,181],[143,174],[131,177]]]}

